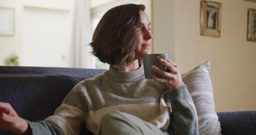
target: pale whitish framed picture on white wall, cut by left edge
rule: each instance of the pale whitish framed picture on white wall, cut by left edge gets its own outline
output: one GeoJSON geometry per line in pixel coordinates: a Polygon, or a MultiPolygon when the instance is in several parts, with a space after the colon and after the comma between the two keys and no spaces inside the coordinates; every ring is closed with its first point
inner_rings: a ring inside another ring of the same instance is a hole
{"type": "Polygon", "coordinates": [[[14,9],[0,7],[0,35],[14,35],[14,9]]]}

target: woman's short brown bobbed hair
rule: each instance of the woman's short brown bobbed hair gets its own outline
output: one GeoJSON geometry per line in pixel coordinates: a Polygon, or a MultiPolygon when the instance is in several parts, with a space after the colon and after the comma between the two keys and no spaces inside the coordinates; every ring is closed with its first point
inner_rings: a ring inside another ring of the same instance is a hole
{"type": "Polygon", "coordinates": [[[142,4],[125,4],[108,10],[98,23],[90,46],[101,62],[124,67],[134,61],[142,4]]]}

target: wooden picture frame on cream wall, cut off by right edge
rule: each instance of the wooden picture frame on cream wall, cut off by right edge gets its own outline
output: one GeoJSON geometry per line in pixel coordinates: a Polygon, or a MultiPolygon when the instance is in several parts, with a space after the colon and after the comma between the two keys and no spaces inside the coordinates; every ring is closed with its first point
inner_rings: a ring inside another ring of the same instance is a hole
{"type": "Polygon", "coordinates": [[[256,42],[256,9],[248,9],[247,40],[256,42]]]}

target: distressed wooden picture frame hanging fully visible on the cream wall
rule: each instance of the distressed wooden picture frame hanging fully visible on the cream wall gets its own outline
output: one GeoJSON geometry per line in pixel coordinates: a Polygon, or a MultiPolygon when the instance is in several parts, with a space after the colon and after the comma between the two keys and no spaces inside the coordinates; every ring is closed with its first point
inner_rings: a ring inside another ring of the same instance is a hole
{"type": "Polygon", "coordinates": [[[221,3],[201,0],[200,34],[220,37],[221,3]]]}

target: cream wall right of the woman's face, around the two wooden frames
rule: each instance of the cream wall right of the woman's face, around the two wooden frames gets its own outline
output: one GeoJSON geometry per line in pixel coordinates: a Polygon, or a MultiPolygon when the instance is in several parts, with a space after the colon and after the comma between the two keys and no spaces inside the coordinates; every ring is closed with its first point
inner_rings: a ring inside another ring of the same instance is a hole
{"type": "Polygon", "coordinates": [[[154,33],[154,50],[174,51],[171,55],[182,73],[210,61],[216,111],[256,110],[256,42],[246,40],[247,10],[256,9],[256,2],[212,0],[222,4],[221,37],[214,38],[200,36],[200,0],[171,1],[154,1],[154,12],[165,14],[162,18],[153,14],[154,31],[166,28],[160,35],[154,33]],[[161,8],[164,4],[173,4],[172,9],[161,8]],[[166,18],[173,19],[174,31],[159,22],[166,18]],[[158,42],[158,36],[164,36],[164,41],[158,42]],[[172,36],[170,41],[167,37],[172,36]]]}

